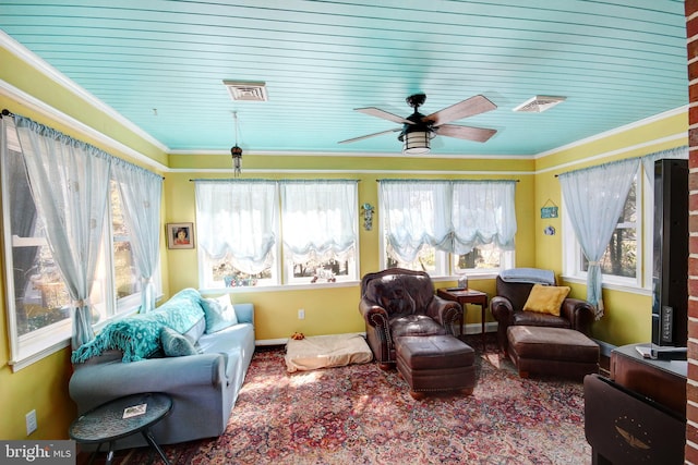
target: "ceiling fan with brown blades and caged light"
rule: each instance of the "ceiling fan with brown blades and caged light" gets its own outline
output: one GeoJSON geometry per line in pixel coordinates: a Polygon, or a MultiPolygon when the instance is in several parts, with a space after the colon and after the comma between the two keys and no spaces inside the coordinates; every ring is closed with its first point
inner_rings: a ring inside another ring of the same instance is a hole
{"type": "Polygon", "coordinates": [[[357,108],[356,111],[396,123],[402,123],[402,127],[395,127],[381,131],[380,133],[340,140],[339,144],[348,144],[400,131],[400,135],[397,138],[402,143],[402,152],[416,155],[428,154],[430,150],[430,139],[436,135],[483,143],[496,134],[496,130],[447,124],[461,118],[473,117],[497,108],[496,105],[492,103],[484,96],[477,95],[470,97],[469,99],[438,110],[435,113],[428,114],[426,117],[419,112],[419,107],[424,103],[424,100],[426,100],[425,94],[414,94],[407,97],[405,101],[414,109],[414,112],[407,118],[398,117],[397,114],[375,107],[357,108]]]}

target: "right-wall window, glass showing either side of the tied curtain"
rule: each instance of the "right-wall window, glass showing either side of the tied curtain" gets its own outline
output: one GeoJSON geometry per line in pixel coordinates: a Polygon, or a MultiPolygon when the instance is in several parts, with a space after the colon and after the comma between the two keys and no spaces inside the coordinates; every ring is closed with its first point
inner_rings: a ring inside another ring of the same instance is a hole
{"type": "MultiPolygon", "coordinates": [[[[634,178],[611,241],[603,257],[599,260],[605,284],[642,287],[641,257],[646,252],[646,244],[651,243],[647,238],[643,241],[646,234],[651,234],[651,224],[645,224],[642,219],[652,219],[651,205],[650,211],[642,215],[641,206],[646,205],[648,208],[648,203],[643,198],[651,199],[649,186],[643,180],[640,167],[634,178]]],[[[589,261],[575,237],[573,225],[567,216],[563,218],[563,228],[566,232],[563,236],[565,274],[586,280],[589,261]]]]}

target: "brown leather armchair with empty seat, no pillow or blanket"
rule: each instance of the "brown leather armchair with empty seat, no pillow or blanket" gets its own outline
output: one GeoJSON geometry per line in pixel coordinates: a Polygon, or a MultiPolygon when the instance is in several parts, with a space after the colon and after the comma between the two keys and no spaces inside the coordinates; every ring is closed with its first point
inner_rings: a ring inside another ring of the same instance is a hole
{"type": "Polygon", "coordinates": [[[402,335],[454,335],[462,308],[434,295],[423,271],[389,268],[361,280],[359,311],[366,325],[366,341],[382,369],[395,366],[395,342],[402,335]]]}

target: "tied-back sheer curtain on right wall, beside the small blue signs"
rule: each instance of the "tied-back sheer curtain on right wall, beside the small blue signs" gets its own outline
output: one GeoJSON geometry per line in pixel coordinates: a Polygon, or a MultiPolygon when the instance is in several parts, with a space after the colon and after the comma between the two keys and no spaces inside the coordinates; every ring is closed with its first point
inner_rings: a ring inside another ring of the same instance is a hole
{"type": "Polygon", "coordinates": [[[563,173],[558,178],[566,212],[589,260],[587,301],[595,306],[597,319],[603,316],[599,260],[618,223],[639,160],[633,158],[563,173]]]}

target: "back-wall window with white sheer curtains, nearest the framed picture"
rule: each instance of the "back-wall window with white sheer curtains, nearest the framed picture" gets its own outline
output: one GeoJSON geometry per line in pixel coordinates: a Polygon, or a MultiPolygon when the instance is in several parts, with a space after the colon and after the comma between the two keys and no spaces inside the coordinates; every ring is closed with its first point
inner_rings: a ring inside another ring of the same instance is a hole
{"type": "Polygon", "coordinates": [[[356,280],[357,205],[356,181],[197,181],[202,287],[356,280]]]}

